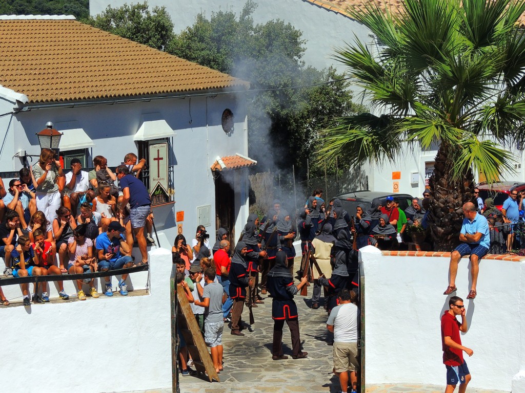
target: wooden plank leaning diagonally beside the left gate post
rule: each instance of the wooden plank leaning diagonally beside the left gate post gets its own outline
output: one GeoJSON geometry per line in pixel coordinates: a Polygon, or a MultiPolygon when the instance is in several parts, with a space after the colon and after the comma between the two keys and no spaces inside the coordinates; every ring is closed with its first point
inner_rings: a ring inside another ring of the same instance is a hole
{"type": "Polygon", "coordinates": [[[178,326],[184,336],[184,341],[188,347],[188,352],[192,355],[195,369],[199,373],[206,372],[208,379],[212,382],[214,379],[220,382],[219,376],[213,367],[212,356],[208,352],[208,347],[204,343],[204,337],[198,327],[193,311],[190,307],[190,302],[186,299],[186,294],[182,286],[177,285],[177,300],[178,300],[178,326]],[[204,367],[202,366],[204,365],[204,367]]]}

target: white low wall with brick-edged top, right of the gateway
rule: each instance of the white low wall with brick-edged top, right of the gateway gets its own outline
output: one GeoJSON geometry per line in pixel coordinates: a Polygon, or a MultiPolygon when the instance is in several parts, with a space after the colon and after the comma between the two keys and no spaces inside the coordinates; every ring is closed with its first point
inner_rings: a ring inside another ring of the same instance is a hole
{"type": "MultiPolygon", "coordinates": [[[[383,256],[365,247],[366,383],[446,384],[440,318],[448,309],[448,257],[383,256]]],[[[525,391],[523,261],[482,259],[478,296],[468,259],[460,261],[456,296],[464,299],[469,330],[461,333],[470,387],[525,391]],[[521,329],[520,329],[521,326],[521,329]],[[514,378],[514,381],[513,381],[514,378]]]]}

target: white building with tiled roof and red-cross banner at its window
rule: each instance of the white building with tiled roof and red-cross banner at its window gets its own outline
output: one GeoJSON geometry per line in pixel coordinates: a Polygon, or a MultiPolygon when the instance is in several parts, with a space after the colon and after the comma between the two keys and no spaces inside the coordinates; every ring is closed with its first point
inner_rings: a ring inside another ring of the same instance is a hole
{"type": "Polygon", "coordinates": [[[52,122],[64,133],[66,169],[73,157],[92,167],[101,155],[112,169],[128,152],[148,160],[143,180],[159,194],[152,200],[163,247],[177,229],[190,241],[198,224],[212,243],[219,226],[239,233],[248,215],[243,168],[255,164],[247,158],[247,82],[73,17],[4,16],[0,36],[4,179],[37,162],[26,155],[39,154],[35,133],[52,122]]]}

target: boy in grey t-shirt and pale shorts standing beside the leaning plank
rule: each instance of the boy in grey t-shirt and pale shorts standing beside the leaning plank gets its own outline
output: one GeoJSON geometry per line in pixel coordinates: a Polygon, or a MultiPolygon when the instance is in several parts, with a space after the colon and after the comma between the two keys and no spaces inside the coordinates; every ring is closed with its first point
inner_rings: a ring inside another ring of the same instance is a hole
{"type": "Polygon", "coordinates": [[[205,307],[204,341],[211,348],[212,361],[215,371],[223,369],[223,286],[215,282],[215,268],[208,267],[204,270],[204,301],[195,304],[205,307]]]}

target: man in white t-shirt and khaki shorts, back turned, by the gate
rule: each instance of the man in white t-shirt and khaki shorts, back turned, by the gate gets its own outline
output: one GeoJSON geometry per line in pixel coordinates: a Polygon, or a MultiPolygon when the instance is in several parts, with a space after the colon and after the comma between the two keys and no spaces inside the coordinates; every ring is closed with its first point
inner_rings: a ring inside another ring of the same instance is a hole
{"type": "Polygon", "coordinates": [[[356,296],[354,291],[341,290],[338,295],[339,305],[332,309],[327,321],[327,329],[333,332],[333,368],[339,377],[341,393],[346,393],[348,389],[349,373],[352,393],[357,388],[359,312],[353,303],[356,296]]]}

